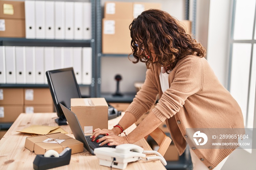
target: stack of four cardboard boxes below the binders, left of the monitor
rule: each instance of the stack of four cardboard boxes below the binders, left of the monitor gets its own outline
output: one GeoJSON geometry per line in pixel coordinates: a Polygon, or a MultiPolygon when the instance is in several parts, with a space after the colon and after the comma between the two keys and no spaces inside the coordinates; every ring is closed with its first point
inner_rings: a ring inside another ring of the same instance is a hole
{"type": "Polygon", "coordinates": [[[54,112],[49,88],[1,88],[0,123],[11,123],[20,113],[54,112]]]}

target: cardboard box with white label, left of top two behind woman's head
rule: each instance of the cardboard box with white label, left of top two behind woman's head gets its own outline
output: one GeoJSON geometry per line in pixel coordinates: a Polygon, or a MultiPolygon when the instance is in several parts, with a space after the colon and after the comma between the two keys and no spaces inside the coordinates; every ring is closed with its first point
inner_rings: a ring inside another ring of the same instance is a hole
{"type": "Polygon", "coordinates": [[[104,5],[104,18],[127,19],[132,18],[132,2],[106,1],[104,5]]]}

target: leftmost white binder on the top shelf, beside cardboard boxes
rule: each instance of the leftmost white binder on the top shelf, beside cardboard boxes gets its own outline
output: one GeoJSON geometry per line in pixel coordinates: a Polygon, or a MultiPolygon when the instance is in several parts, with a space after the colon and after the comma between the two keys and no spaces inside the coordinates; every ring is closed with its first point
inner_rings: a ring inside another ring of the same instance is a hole
{"type": "Polygon", "coordinates": [[[25,1],[26,38],[35,38],[35,1],[25,1]]]}

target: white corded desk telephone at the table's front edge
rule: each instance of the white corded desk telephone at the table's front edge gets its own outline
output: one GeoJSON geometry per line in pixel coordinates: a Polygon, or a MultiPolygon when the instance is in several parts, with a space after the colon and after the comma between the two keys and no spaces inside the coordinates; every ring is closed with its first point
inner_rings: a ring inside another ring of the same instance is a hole
{"type": "Polygon", "coordinates": [[[129,162],[139,160],[159,159],[163,165],[167,165],[165,159],[157,151],[144,151],[142,147],[135,144],[120,144],[116,148],[101,147],[94,149],[94,154],[99,159],[99,165],[125,169],[129,162]],[[157,157],[146,157],[146,154],[156,154],[157,157]]]}

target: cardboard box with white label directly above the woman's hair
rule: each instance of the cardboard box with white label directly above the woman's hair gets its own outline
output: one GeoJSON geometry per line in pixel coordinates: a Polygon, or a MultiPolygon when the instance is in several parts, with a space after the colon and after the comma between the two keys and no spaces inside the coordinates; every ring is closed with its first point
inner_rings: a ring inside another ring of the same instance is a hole
{"type": "Polygon", "coordinates": [[[148,9],[161,9],[160,3],[134,2],[132,5],[133,18],[137,18],[143,11],[148,9]]]}

